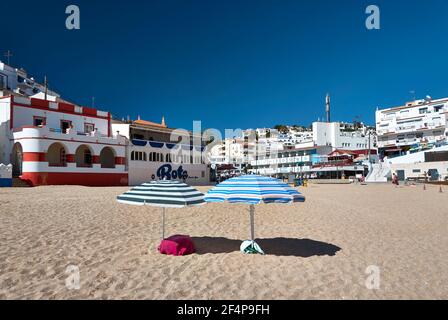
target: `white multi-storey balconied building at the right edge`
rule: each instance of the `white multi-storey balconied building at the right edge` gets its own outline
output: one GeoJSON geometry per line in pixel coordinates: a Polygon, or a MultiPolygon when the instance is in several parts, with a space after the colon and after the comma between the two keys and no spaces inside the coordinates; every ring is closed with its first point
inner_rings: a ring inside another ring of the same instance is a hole
{"type": "Polygon", "coordinates": [[[448,98],[415,100],[376,111],[378,152],[370,182],[448,179],[448,98]]]}

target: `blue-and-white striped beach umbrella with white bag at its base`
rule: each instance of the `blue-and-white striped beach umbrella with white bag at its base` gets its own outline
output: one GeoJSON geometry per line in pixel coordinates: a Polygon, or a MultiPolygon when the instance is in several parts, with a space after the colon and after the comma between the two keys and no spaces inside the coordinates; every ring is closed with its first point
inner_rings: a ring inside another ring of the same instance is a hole
{"type": "Polygon", "coordinates": [[[204,200],[206,202],[228,201],[230,203],[249,204],[251,240],[243,242],[241,249],[246,253],[263,254],[263,250],[255,243],[255,205],[260,203],[304,202],[305,197],[278,179],[245,175],[218,184],[205,195],[204,200]]]}

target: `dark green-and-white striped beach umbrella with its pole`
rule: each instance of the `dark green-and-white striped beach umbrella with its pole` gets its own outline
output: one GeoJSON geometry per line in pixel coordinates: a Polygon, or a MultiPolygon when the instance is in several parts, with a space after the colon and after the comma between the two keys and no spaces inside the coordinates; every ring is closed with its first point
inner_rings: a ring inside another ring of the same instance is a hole
{"type": "Polygon", "coordinates": [[[177,180],[143,183],[119,195],[117,201],[131,205],[163,208],[162,239],[165,239],[165,208],[183,208],[205,204],[203,193],[177,180]]]}

